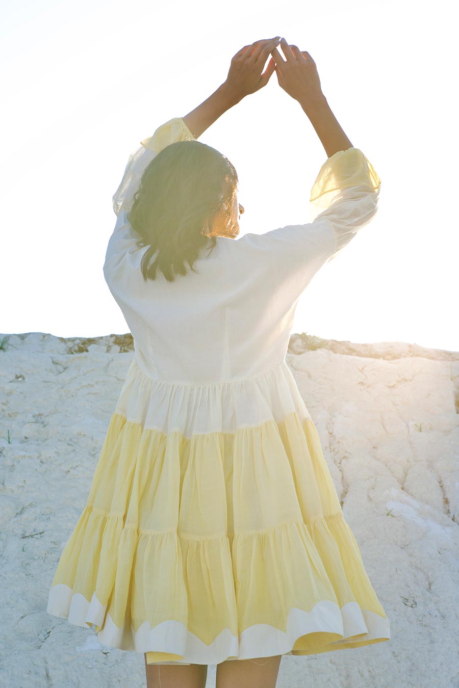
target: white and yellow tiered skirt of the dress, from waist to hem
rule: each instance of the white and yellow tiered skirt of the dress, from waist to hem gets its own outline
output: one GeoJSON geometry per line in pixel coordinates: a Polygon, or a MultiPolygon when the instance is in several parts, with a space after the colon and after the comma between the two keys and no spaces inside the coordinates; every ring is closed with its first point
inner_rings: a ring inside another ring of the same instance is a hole
{"type": "Polygon", "coordinates": [[[134,356],[47,612],[149,664],[389,640],[285,361],[181,385],[145,375],[134,356]]]}

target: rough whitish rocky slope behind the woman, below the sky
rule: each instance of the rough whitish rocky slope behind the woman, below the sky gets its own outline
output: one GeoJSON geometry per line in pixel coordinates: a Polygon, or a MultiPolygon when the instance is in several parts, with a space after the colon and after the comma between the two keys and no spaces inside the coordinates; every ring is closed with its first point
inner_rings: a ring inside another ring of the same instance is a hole
{"type": "MultiPolygon", "coordinates": [[[[142,654],[46,612],[132,338],[3,336],[0,685],[145,686],[142,654]]],[[[284,657],[277,688],[459,687],[459,352],[293,334],[287,362],[392,639],[284,657]]]]}

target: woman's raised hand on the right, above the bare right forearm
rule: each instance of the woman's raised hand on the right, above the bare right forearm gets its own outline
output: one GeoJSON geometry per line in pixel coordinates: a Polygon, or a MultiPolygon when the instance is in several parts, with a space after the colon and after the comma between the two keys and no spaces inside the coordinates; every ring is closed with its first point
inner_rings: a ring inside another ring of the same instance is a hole
{"type": "Polygon", "coordinates": [[[279,86],[289,96],[298,100],[303,109],[314,105],[324,98],[316,63],[306,50],[300,51],[297,45],[288,45],[282,38],[280,46],[286,59],[274,48],[271,51],[276,63],[276,74],[279,86]]]}

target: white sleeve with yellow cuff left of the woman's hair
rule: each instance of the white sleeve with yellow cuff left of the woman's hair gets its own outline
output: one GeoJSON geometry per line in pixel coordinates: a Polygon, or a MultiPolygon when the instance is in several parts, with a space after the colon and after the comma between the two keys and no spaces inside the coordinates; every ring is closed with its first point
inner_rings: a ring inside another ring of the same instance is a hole
{"type": "Polygon", "coordinates": [[[136,242],[140,239],[127,221],[126,213],[131,210],[134,194],[138,191],[145,169],[166,146],[186,140],[195,140],[195,137],[181,117],[174,117],[158,127],[153,136],[142,140],[140,147],[129,155],[125,173],[113,196],[113,209],[117,220],[105,255],[105,275],[109,267],[118,264],[123,255],[129,250],[136,249],[136,242]]]}

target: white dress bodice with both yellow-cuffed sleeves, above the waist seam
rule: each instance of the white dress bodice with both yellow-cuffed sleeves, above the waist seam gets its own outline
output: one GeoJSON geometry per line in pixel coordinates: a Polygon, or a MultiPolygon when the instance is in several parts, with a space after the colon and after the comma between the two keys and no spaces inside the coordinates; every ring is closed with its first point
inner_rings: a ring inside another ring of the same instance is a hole
{"type": "Polygon", "coordinates": [[[338,151],[312,186],[311,222],[217,237],[211,254],[195,261],[198,274],[169,282],[158,272],[145,283],[140,260],[147,247],[136,245],[140,237],[126,214],[149,162],[165,145],[193,138],[184,120],[173,118],[130,156],[113,198],[117,220],[104,276],[144,375],[180,385],[242,381],[285,360],[299,297],[374,217],[381,180],[362,151],[338,151]]]}

